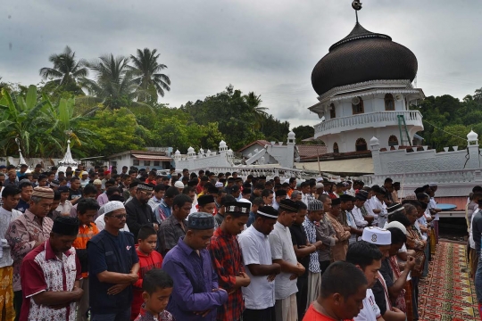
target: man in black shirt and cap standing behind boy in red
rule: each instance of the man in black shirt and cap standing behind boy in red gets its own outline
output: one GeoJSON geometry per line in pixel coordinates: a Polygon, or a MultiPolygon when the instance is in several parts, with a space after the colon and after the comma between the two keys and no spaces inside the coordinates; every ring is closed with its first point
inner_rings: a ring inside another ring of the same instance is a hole
{"type": "Polygon", "coordinates": [[[153,209],[147,204],[153,191],[154,185],[139,183],[136,196],[126,204],[127,225],[134,235],[134,240],[137,240],[137,233],[142,226],[150,225],[157,231],[157,220],[153,209]]]}

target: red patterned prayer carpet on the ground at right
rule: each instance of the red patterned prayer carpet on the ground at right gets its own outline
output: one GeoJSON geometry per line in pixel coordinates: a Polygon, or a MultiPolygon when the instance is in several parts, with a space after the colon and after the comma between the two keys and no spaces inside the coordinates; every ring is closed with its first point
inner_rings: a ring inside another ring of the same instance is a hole
{"type": "Polygon", "coordinates": [[[466,270],[465,245],[439,242],[428,276],[420,279],[420,321],[480,320],[475,284],[466,270]]]}

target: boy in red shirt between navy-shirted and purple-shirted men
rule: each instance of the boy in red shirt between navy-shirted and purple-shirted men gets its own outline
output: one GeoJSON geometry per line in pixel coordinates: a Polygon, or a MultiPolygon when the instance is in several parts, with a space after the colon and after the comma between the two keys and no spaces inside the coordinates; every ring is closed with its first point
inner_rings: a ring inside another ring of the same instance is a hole
{"type": "MultiPolygon", "coordinates": [[[[145,274],[155,268],[162,267],[162,255],[155,250],[157,244],[157,233],[152,226],[142,226],[137,234],[137,257],[139,258],[139,278],[134,284],[133,300],[130,309],[130,319],[134,320],[139,314],[140,307],[144,301],[143,291],[145,291],[144,277],[145,274]]],[[[172,287],[172,286],[170,286],[172,287]]],[[[154,288],[155,290],[155,288],[154,288]]],[[[172,291],[172,289],[170,290],[172,291]]],[[[149,293],[149,294],[152,294],[149,293]]],[[[169,296],[168,296],[169,299],[169,296]]],[[[167,305],[167,300],[166,300],[167,305]]],[[[165,306],[164,306],[165,308],[165,306]]]]}

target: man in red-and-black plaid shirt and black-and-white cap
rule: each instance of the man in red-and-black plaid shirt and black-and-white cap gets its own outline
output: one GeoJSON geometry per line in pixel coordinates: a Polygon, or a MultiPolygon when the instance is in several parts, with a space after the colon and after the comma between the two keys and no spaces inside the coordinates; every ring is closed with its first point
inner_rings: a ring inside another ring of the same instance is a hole
{"type": "MultiPolygon", "coordinates": [[[[226,196],[228,197],[228,196],[226,196]]],[[[233,198],[234,200],[234,198],[233,198]]],[[[212,266],[218,274],[220,287],[229,292],[228,301],[218,309],[218,321],[241,319],[245,303],[242,287],[251,283],[245,273],[243,256],[236,236],[239,235],[249,217],[250,204],[246,202],[226,202],[225,219],[214,231],[208,247],[212,266]]]]}

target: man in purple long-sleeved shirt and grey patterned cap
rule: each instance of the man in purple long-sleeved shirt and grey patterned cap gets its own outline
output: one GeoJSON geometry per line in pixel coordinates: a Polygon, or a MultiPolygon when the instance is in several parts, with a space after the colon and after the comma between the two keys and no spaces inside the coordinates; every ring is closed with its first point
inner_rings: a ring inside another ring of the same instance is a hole
{"type": "Polygon", "coordinates": [[[212,214],[191,214],[186,236],[179,238],[178,244],[162,261],[162,269],[174,280],[167,310],[176,320],[213,321],[217,309],[228,300],[228,292],[219,287],[218,276],[206,250],[213,232],[212,214]]]}

